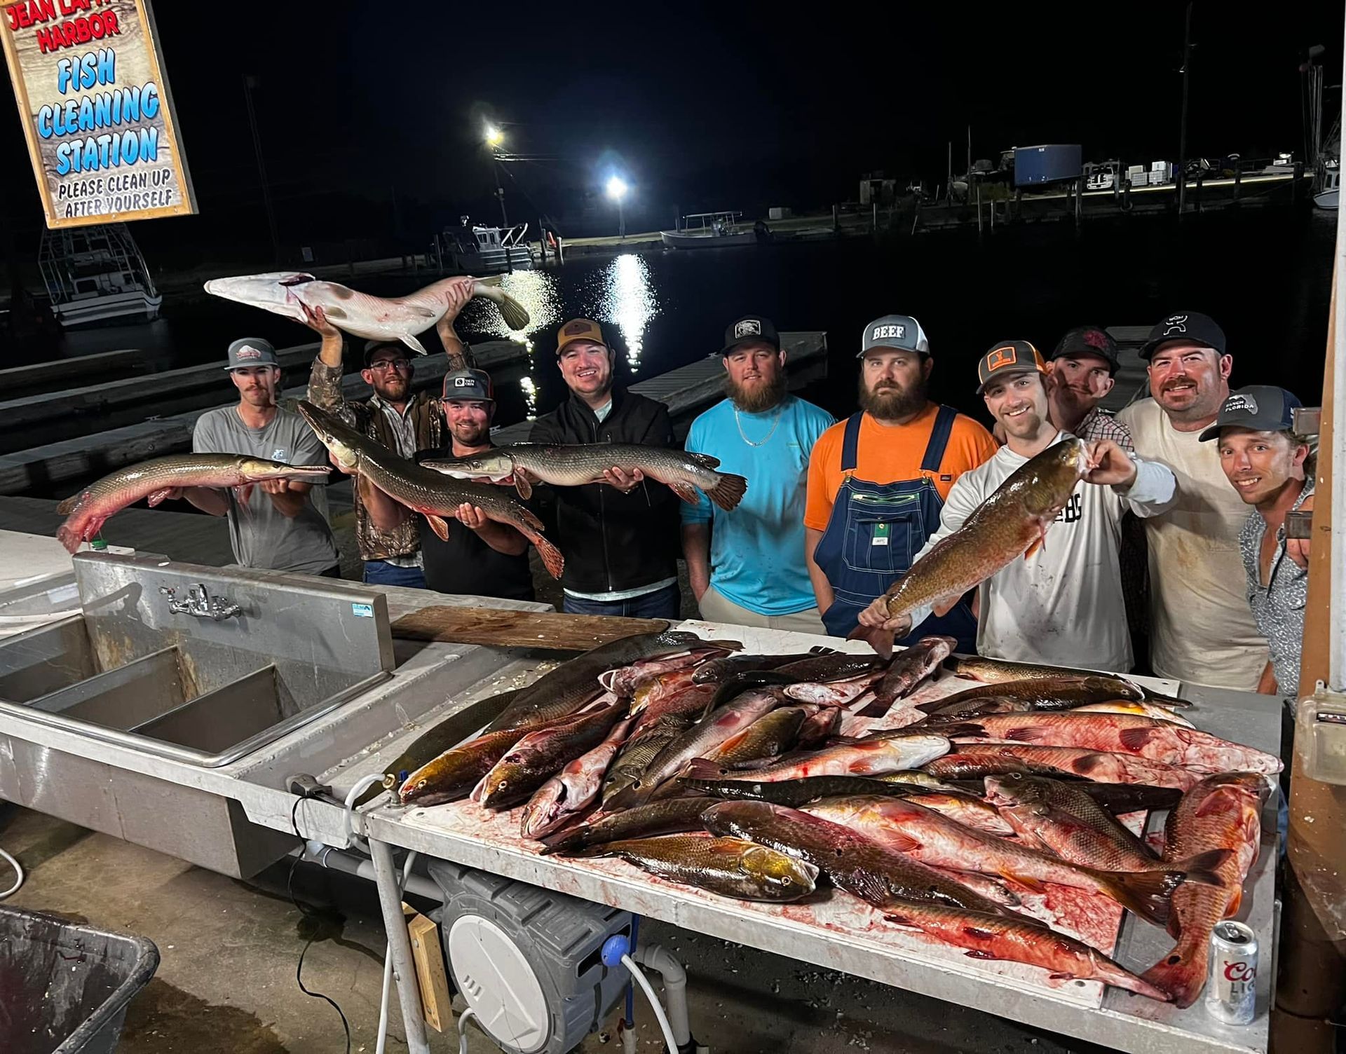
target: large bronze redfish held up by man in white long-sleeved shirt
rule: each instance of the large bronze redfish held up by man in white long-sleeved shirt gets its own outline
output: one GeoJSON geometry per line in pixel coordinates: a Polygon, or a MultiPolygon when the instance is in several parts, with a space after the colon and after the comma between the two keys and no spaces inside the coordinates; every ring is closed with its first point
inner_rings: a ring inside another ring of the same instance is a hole
{"type": "MultiPolygon", "coordinates": [[[[961,528],[888,587],[888,618],[927,604],[937,615],[948,614],[973,586],[1019,556],[1031,556],[1090,467],[1084,442],[1073,436],[1022,464],[961,528]]],[[[892,652],[892,630],[859,626],[851,637],[868,641],[880,656],[892,652]]]]}

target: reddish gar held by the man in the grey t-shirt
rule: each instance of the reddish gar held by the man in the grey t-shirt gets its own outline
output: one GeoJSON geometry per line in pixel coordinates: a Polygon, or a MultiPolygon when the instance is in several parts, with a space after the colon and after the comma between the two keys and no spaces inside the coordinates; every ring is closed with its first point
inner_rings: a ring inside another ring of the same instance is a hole
{"type": "Polygon", "coordinates": [[[151,458],[118,468],[61,502],[57,512],[66,522],[57,528],[57,538],[67,552],[74,552],[79,542],[97,536],[108,517],[141,498],[148,498],[151,506],[159,505],[175,487],[233,487],[238,501],[246,503],[253,485],[264,479],[320,483],[330,471],[327,464],[284,464],[242,454],[151,458]]]}

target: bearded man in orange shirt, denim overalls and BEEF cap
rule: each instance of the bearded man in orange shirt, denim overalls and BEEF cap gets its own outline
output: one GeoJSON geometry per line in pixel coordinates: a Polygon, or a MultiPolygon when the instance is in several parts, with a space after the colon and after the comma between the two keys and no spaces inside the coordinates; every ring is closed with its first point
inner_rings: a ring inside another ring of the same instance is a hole
{"type": "MultiPolygon", "coordinates": [[[[970,417],[926,397],[930,342],[914,318],[884,315],[864,327],[860,412],[824,432],[809,456],[804,553],[822,625],[833,637],[898,580],[940,528],[953,482],[997,450],[970,417]]],[[[921,625],[976,650],[966,603],[921,625]]]]}

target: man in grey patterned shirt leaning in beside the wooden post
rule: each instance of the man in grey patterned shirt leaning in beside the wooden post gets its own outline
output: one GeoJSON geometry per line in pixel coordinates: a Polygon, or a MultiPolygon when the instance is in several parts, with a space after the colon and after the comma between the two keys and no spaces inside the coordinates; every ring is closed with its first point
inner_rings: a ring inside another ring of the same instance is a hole
{"type": "Polygon", "coordinates": [[[1285,538],[1285,514],[1314,507],[1314,455],[1295,435],[1294,394],[1253,385],[1232,392],[1201,442],[1215,440],[1219,467],[1253,506],[1238,549],[1248,576],[1248,603],[1257,631],[1267,638],[1271,661],[1257,691],[1299,695],[1299,657],[1308,598],[1308,540],[1285,538]]]}

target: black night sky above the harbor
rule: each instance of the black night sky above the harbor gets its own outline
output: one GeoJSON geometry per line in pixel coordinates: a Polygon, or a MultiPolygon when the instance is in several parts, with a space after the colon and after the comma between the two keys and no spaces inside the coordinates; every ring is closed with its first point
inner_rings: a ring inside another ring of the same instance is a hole
{"type": "MultiPolygon", "coordinates": [[[[681,211],[853,199],[861,172],[926,184],[1012,145],[1082,143],[1086,159],[1175,159],[1182,3],[1127,5],[271,4],[227,17],[163,3],[156,19],[202,217],[137,225],[143,241],[265,238],[242,77],[284,241],[401,234],[491,217],[486,120],[507,148],[520,218],[579,214],[614,171],[641,229],[681,211]],[[451,12],[451,13],[450,13],[451,12]],[[210,27],[206,32],[202,27],[210,27]],[[151,227],[153,232],[151,232],[151,227]]],[[[1341,4],[1253,19],[1195,4],[1190,155],[1303,153],[1298,63],[1341,4]]],[[[1335,93],[1330,94],[1330,104],[1335,93]]],[[[4,213],[40,225],[15,114],[0,118],[4,213]]],[[[629,229],[631,223],[629,222],[629,229]]]]}

